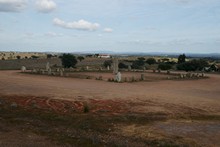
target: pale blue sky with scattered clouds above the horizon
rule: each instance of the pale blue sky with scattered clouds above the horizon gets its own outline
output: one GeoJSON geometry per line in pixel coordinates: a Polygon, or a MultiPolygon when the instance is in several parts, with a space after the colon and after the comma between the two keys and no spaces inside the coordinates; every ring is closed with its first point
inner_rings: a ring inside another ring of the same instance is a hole
{"type": "Polygon", "coordinates": [[[0,51],[220,53],[220,0],[0,0],[0,51]]]}

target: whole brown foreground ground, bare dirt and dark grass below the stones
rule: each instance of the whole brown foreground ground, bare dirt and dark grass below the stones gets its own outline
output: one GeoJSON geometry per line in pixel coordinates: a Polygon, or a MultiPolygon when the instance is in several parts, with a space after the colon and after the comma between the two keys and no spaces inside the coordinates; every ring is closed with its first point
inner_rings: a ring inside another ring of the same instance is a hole
{"type": "Polygon", "coordinates": [[[220,75],[145,76],[115,83],[1,71],[0,146],[220,146],[220,75]]]}

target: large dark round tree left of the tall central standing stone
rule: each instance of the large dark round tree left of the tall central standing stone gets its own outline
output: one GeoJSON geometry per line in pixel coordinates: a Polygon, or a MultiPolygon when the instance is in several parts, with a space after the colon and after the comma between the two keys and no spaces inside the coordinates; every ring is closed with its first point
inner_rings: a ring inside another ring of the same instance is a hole
{"type": "Polygon", "coordinates": [[[76,57],[72,54],[63,54],[60,56],[64,68],[75,67],[77,64],[76,57]]]}

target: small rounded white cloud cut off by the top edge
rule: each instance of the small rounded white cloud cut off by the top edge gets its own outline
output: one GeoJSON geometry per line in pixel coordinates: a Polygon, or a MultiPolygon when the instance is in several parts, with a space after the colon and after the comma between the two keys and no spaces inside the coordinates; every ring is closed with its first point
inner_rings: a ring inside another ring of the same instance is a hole
{"type": "Polygon", "coordinates": [[[37,0],[37,10],[42,13],[49,13],[56,9],[57,5],[52,0],[37,0]]]}

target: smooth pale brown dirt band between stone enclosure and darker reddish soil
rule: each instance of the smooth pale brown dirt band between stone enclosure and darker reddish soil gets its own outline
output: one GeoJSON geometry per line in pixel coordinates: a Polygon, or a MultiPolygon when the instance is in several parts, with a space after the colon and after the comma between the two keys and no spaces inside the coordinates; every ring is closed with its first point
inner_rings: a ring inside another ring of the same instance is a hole
{"type": "Polygon", "coordinates": [[[161,105],[175,104],[219,113],[220,75],[209,75],[209,77],[186,81],[111,83],[93,79],[36,76],[21,74],[19,71],[1,71],[0,93],[47,96],[66,100],[121,99],[140,103],[150,100],[161,105]]]}

